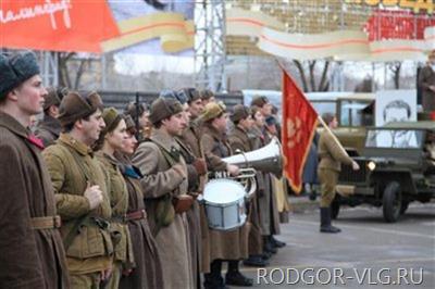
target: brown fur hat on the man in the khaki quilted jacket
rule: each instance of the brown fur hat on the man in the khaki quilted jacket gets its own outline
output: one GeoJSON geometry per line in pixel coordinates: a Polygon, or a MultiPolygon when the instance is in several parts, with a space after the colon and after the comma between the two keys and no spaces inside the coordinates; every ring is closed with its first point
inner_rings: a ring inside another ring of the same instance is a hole
{"type": "Polygon", "coordinates": [[[102,101],[97,92],[70,92],[59,106],[58,120],[65,127],[102,109],[102,101]]]}

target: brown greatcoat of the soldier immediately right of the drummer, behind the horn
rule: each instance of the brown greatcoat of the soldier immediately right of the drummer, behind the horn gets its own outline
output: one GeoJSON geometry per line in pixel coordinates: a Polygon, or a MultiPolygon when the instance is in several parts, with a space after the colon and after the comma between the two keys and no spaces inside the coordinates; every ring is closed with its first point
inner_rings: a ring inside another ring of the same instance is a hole
{"type": "MultiPolygon", "coordinates": [[[[256,149],[256,136],[246,131],[241,127],[234,127],[228,137],[229,146],[233,151],[240,150],[243,152],[253,151],[256,149]]],[[[258,193],[252,197],[249,203],[248,219],[251,223],[249,231],[249,254],[258,255],[263,253],[263,241],[261,238],[260,212],[258,210],[258,193]]]]}

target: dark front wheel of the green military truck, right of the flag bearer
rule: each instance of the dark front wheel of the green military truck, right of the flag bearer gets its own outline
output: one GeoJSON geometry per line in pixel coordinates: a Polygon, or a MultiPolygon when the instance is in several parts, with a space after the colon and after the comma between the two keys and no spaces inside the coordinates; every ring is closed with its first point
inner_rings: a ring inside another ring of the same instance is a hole
{"type": "Polygon", "coordinates": [[[387,223],[394,223],[399,218],[401,210],[401,189],[399,183],[391,181],[385,187],[382,206],[384,219],[387,223]]]}

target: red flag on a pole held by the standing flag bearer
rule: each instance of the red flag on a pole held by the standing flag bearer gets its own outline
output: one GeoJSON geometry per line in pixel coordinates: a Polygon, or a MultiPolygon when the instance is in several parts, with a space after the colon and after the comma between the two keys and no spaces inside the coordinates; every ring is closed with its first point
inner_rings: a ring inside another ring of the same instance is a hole
{"type": "Polygon", "coordinates": [[[283,74],[284,175],[291,189],[299,193],[303,166],[318,126],[318,113],[284,70],[283,74]]]}

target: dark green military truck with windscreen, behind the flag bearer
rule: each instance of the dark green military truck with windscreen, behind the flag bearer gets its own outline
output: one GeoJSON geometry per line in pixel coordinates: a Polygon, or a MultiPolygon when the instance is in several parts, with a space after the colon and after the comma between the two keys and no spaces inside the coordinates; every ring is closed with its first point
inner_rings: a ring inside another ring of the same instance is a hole
{"type": "Polygon", "coordinates": [[[368,127],[360,171],[343,165],[333,217],[341,205],[382,206],[384,219],[396,222],[412,201],[435,198],[435,122],[389,123],[368,127]]]}

